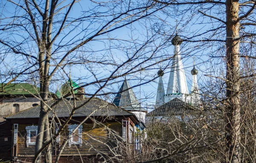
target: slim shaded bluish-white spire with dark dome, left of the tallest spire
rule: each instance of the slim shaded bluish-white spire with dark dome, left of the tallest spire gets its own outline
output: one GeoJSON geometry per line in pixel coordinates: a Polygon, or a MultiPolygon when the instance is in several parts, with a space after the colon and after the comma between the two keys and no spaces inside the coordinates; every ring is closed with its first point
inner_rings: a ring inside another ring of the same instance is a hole
{"type": "Polygon", "coordinates": [[[157,87],[157,99],[156,99],[156,107],[161,106],[164,104],[164,86],[163,86],[163,70],[160,68],[160,70],[157,72],[157,75],[159,76],[159,82],[157,87]]]}

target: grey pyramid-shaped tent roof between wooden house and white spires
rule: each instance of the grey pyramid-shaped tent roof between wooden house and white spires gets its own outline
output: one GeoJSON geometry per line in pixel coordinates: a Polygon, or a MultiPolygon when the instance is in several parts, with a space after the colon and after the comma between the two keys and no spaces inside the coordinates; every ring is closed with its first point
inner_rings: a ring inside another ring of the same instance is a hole
{"type": "Polygon", "coordinates": [[[119,89],[119,93],[116,94],[116,97],[113,100],[113,103],[116,106],[122,107],[123,109],[129,110],[129,111],[147,112],[146,109],[140,106],[140,103],[137,100],[137,97],[135,96],[126,78],[119,89]]]}

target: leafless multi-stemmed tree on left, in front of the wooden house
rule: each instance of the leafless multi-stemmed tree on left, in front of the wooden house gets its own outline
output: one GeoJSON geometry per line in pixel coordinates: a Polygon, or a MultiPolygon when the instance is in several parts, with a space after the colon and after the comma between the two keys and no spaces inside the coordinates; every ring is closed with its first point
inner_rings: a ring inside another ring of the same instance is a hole
{"type": "MultiPolygon", "coordinates": [[[[135,32],[132,23],[142,25],[142,20],[148,22],[145,18],[150,16],[155,19],[154,14],[167,5],[158,5],[154,1],[90,1],[89,6],[87,3],[80,0],[2,2],[1,64],[5,65],[2,77],[9,81],[8,85],[13,81],[31,80],[29,76],[34,76],[40,85],[41,111],[34,162],[40,162],[43,151],[45,162],[52,162],[51,142],[56,136],[50,132],[48,113],[51,108],[46,102],[52,79],[58,78],[61,73],[64,74],[61,77],[68,76],[67,65],[80,64],[94,78],[81,86],[96,85],[92,93],[87,93],[88,96],[106,95],[114,93],[102,90],[115,83],[114,79],[141,71],[143,63],[148,63],[144,69],[151,68],[155,64],[151,60],[157,58],[156,52],[163,47],[163,44],[153,44],[157,37],[154,34],[143,33],[146,40],[140,39],[140,36],[123,39],[116,38],[115,32],[121,29],[135,32]],[[93,45],[96,42],[99,42],[98,46],[93,45]],[[153,50],[150,53],[145,50],[148,46],[153,50]],[[126,51],[127,54],[123,55],[125,60],[114,54],[119,51],[126,51]],[[8,56],[13,58],[9,61],[6,59],[8,56]],[[113,70],[99,75],[97,71],[108,66],[113,70]],[[38,76],[33,75],[35,73],[38,76]]],[[[74,92],[64,97],[71,94],[74,95],[74,92]]],[[[69,120],[63,123],[61,129],[69,120]]]]}

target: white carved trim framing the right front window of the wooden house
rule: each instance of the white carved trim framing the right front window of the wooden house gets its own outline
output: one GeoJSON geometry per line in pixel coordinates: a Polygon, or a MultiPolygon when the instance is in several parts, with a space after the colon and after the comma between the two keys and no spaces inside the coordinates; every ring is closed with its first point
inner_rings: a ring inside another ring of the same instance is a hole
{"type": "Polygon", "coordinates": [[[71,147],[72,144],[78,144],[79,146],[82,146],[82,129],[83,126],[80,125],[77,130],[78,130],[78,141],[73,141],[73,131],[76,129],[76,127],[79,126],[77,124],[69,125],[68,130],[69,130],[69,146],[71,147]]]}

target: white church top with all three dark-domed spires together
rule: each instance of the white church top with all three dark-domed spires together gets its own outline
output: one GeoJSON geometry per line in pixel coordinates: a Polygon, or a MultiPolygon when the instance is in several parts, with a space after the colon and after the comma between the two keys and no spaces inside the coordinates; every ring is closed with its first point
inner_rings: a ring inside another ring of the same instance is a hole
{"type": "Polygon", "coordinates": [[[178,98],[183,102],[197,104],[200,103],[200,92],[197,82],[198,70],[195,69],[195,60],[194,68],[191,71],[193,80],[191,93],[189,94],[188,86],[186,83],[186,76],[183,69],[182,60],[180,57],[180,44],[182,39],[176,34],[172,39],[172,45],[174,45],[174,56],[172,57],[172,67],[169,76],[169,82],[166,90],[166,94],[163,86],[163,70],[160,69],[157,74],[159,76],[159,83],[157,87],[157,98],[156,98],[156,108],[168,103],[169,101],[178,98]]]}

